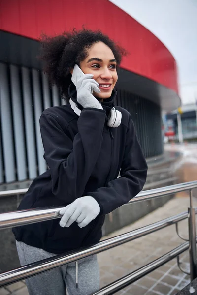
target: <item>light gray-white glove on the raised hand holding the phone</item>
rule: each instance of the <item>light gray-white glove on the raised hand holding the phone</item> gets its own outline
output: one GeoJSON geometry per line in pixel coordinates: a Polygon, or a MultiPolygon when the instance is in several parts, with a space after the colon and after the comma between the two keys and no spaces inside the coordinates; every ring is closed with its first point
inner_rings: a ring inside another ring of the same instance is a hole
{"type": "Polygon", "coordinates": [[[91,90],[100,93],[99,83],[92,79],[92,77],[92,74],[85,74],[77,80],[77,101],[84,108],[103,109],[97,98],[91,94],[91,90]]]}

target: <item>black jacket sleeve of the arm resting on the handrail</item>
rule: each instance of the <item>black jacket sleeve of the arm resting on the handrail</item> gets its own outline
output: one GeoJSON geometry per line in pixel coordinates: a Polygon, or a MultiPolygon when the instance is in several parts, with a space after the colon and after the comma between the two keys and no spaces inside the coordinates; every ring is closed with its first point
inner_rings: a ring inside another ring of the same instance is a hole
{"type": "Polygon", "coordinates": [[[109,181],[106,187],[88,193],[99,203],[99,215],[108,214],[128,203],[142,190],[146,182],[147,164],[135,134],[131,117],[126,136],[126,146],[120,171],[121,176],[109,181]]]}

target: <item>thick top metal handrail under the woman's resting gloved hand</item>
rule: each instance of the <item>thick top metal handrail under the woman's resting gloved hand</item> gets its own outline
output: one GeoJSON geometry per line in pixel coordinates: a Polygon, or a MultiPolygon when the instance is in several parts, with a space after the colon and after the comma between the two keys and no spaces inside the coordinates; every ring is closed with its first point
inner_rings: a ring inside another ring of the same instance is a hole
{"type": "MultiPolygon", "coordinates": [[[[174,184],[174,185],[170,185],[166,187],[160,187],[160,188],[142,191],[125,205],[141,202],[144,200],[151,200],[154,198],[171,195],[181,191],[191,190],[196,187],[197,187],[197,181],[190,181],[190,182],[179,183],[179,184],[174,184]]],[[[14,191],[21,191],[21,190],[14,190],[14,191]]],[[[62,208],[64,207],[62,206],[41,207],[37,209],[19,210],[19,211],[0,214],[0,229],[60,218],[62,216],[59,215],[59,212],[62,208]]]]}

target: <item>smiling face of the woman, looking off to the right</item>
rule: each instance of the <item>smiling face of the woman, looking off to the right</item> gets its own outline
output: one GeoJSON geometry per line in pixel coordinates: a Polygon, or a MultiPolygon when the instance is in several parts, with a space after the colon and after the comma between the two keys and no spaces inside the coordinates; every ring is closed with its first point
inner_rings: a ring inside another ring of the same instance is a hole
{"type": "Polygon", "coordinates": [[[88,56],[80,62],[84,74],[92,74],[99,83],[100,93],[93,95],[100,99],[109,98],[118,80],[116,60],[111,49],[103,42],[97,42],[88,49],[88,56]]]}

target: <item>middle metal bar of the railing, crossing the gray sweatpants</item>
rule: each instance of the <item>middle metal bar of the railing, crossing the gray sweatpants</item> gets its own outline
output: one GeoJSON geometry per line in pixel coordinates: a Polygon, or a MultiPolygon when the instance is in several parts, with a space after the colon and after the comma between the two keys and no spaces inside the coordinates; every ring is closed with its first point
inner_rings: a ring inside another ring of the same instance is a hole
{"type": "MultiPolygon", "coordinates": [[[[196,213],[197,213],[197,209],[196,209],[196,213]]],[[[167,226],[180,222],[186,219],[187,217],[188,217],[188,213],[183,212],[175,216],[165,218],[164,220],[155,222],[153,224],[144,226],[137,230],[133,230],[129,233],[103,240],[99,242],[98,244],[93,245],[89,248],[84,248],[77,252],[76,251],[72,252],[68,255],[65,255],[65,254],[56,255],[52,258],[44,259],[26,266],[21,266],[19,268],[4,272],[0,274],[0,287],[26,279],[28,277],[31,277],[32,275],[39,274],[43,271],[50,270],[52,268],[62,266],[70,262],[85,258],[87,256],[97,254],[99,252],[119,246],[131,240],[137,239],[139,237],[146,236],[148,234],[161,230],[167,226]]]]}

